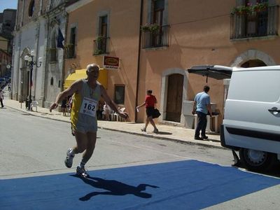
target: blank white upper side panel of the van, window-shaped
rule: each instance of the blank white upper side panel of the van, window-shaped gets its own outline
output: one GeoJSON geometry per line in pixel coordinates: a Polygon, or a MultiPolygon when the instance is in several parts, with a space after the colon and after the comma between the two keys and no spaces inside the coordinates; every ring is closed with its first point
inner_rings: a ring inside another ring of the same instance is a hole
{"type": "Polygon", "coordinates": [[[232,73],[228,99],[277,102],[280,96],[280,71],[237,71],[232,73]]]}

